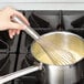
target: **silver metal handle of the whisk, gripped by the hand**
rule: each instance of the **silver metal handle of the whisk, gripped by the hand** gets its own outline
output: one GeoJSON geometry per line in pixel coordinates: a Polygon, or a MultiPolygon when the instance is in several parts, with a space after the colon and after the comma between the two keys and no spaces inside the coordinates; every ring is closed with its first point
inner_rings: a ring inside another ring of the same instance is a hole
{"type": "Polygon", "coordinates": [[[12,20],[20,24],[24,24],[25,25],[24,31],[35,41],[40,38],[39,33],[35,30],[33,30],[30,25],[27,25],[20,18],[13,17],[12,20]]]}

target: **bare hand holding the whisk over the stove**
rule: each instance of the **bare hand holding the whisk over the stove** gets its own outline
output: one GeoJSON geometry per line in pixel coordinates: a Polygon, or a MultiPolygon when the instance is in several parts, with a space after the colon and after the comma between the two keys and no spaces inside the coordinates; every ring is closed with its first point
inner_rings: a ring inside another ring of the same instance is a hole
{"type": "Polygon", "coordinates": [[[22,13],[14,10],[13,8],[7,7],[0,10],[0,31],[9,30],[9,36],[11,39],[13,35],[19,34],[20,30],[24,29],[23,24],[11,21],[11,18],[14,15],[21,18],[29,25],[28,20],[22,15],[22,13]]]}

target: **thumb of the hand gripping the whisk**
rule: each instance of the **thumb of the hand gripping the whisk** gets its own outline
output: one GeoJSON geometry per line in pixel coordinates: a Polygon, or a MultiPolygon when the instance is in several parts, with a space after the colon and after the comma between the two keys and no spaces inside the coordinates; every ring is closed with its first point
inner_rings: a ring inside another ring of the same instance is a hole
{"type": "Polygon", "coordinates": [[[14,23],[14,22],[9,22],[7,25],[8,29],[19,29],[19,30],[24,30],[25,25],[14,23]]]}

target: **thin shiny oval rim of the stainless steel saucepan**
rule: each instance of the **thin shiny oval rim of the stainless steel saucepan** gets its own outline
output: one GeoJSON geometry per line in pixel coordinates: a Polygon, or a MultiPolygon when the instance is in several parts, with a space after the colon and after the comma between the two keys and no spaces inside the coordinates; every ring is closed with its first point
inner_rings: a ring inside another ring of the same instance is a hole
{"type": "MultiPolygon", "coordinates": [[[[40,39],[43,38],[43,36],[48,36],[48,35],[55,34],[55,33],[61,33],[61,34],[65,34],[65,35],[70,34],[70,35],[76,36],[76,38],[78,38],[80,40],[84,41],[84,39],[83,39],[82,36],[80,36],[78,34],[72,33],[72,32],[70,32],[70,31],[54,31],[54,32],[44,33],[44,34],[42,34],[42,35],[40,36],[40,39]]],[[[33,55],[33,53],[32,53],[32,45],[33,45],[34,43],[35,43],[35,41],[33,41],[32,44],[31,44],[31,54],[32,54],[32,55],[33,55]]],[[[33,55],[33,57],[34,57],[34,55],[33,55]]],[[[34,59],[35,59],[35,57],[34,57],[34,59]]],[[[36,59],[35,59],[35,60],[36,60],[36,59]]],[[[84,60],[84,57],[82,57],[81,60],[78,60],[77,62],[75,62],[75,63],[73,63],[73,64],[66,64],[66,65],[46,64],[46,63],[40,62],[39,60],[36,60],[36,61],[39,61],[40,63],[42,63],[42,64],[44,64],[44,65],[73,66],[73,65],[77,64],[78,62],[81,62],[81,61],[83,61],[83,60],[84,60]]]]}

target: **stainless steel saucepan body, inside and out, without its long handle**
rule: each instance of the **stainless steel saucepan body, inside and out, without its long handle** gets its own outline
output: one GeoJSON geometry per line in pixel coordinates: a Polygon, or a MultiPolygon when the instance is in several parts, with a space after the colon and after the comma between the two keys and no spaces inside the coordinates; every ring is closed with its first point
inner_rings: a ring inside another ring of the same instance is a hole
{"type": "Polygon", "coordinates": [[[61,31],[46,33],[41,39],[48,39],[60,48],[70,49],[82,55],[74,64],[54,65],[52,60],[45,56],[46,54],[41,46],[33,42],[31,52],[39,62],[43,63],[43,84],[75,84],[84,77],[84,40],[81,36],[61,31]]]}

